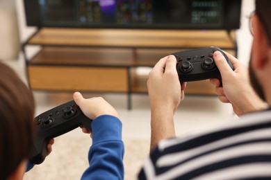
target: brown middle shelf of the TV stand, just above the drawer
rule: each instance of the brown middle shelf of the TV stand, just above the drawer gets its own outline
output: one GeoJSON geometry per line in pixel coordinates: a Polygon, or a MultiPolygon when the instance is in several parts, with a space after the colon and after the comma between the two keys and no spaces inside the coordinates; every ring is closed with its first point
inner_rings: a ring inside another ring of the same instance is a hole
{"type": "Polygon", "coordinates": [[[154,66],[171,50],[44,46],[29,62],[36,65],[154,66]]]}

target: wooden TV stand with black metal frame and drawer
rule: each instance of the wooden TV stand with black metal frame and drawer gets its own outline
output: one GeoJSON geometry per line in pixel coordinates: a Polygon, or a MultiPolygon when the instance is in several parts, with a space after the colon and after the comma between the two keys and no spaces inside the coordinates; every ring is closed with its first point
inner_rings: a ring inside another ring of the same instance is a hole
{"type": "MultiPolygon", "coordinates": [[[[235,32],[226,30],[124,30],[41,28],[23,44],[33,90],[147,93],[147,74],[176,51],[218,46],[236,54],[235,32]],[[26,46],[41,46],[28,58],[26,46]]],[[[214,95],[208,80],[189,82],[186,94],[214,95]]]]}

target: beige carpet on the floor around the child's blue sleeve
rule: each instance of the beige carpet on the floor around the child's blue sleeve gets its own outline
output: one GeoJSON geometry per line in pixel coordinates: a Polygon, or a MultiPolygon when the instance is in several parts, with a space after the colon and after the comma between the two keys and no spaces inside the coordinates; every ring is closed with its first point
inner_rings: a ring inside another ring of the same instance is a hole
{"type": "MultiPolygon", "coordinates": [[[[80,179],[88,168],[88,149],[91,139],[85,136],[59,136],[55,138],[53,152],[40,165],[26,172],[24,180],[80,179]]],[[[140,166],[149,153],[149,141],[124,139],[124,179],[136,179],[140,166]]]]}

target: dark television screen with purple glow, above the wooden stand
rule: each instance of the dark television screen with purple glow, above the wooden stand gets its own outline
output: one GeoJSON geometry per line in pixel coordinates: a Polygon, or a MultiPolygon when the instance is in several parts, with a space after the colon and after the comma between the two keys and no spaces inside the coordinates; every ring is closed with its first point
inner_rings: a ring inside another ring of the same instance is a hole
{"type": "Polygon", "coordinates": [[[24,5],[28,26],[236,29],[241,0],[24,0],[24,5]]]}

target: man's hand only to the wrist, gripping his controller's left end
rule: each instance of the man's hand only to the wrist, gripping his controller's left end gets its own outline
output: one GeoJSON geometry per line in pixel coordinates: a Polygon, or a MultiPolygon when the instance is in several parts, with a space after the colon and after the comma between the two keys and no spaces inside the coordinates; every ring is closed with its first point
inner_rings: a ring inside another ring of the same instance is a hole
{"type": "Polygon", "coordinates": [[[184,98],[185,83],[180,84],[176,57],[169,55],[156,63],[147,81],[151,111],[174,111],[184,98]]]}

